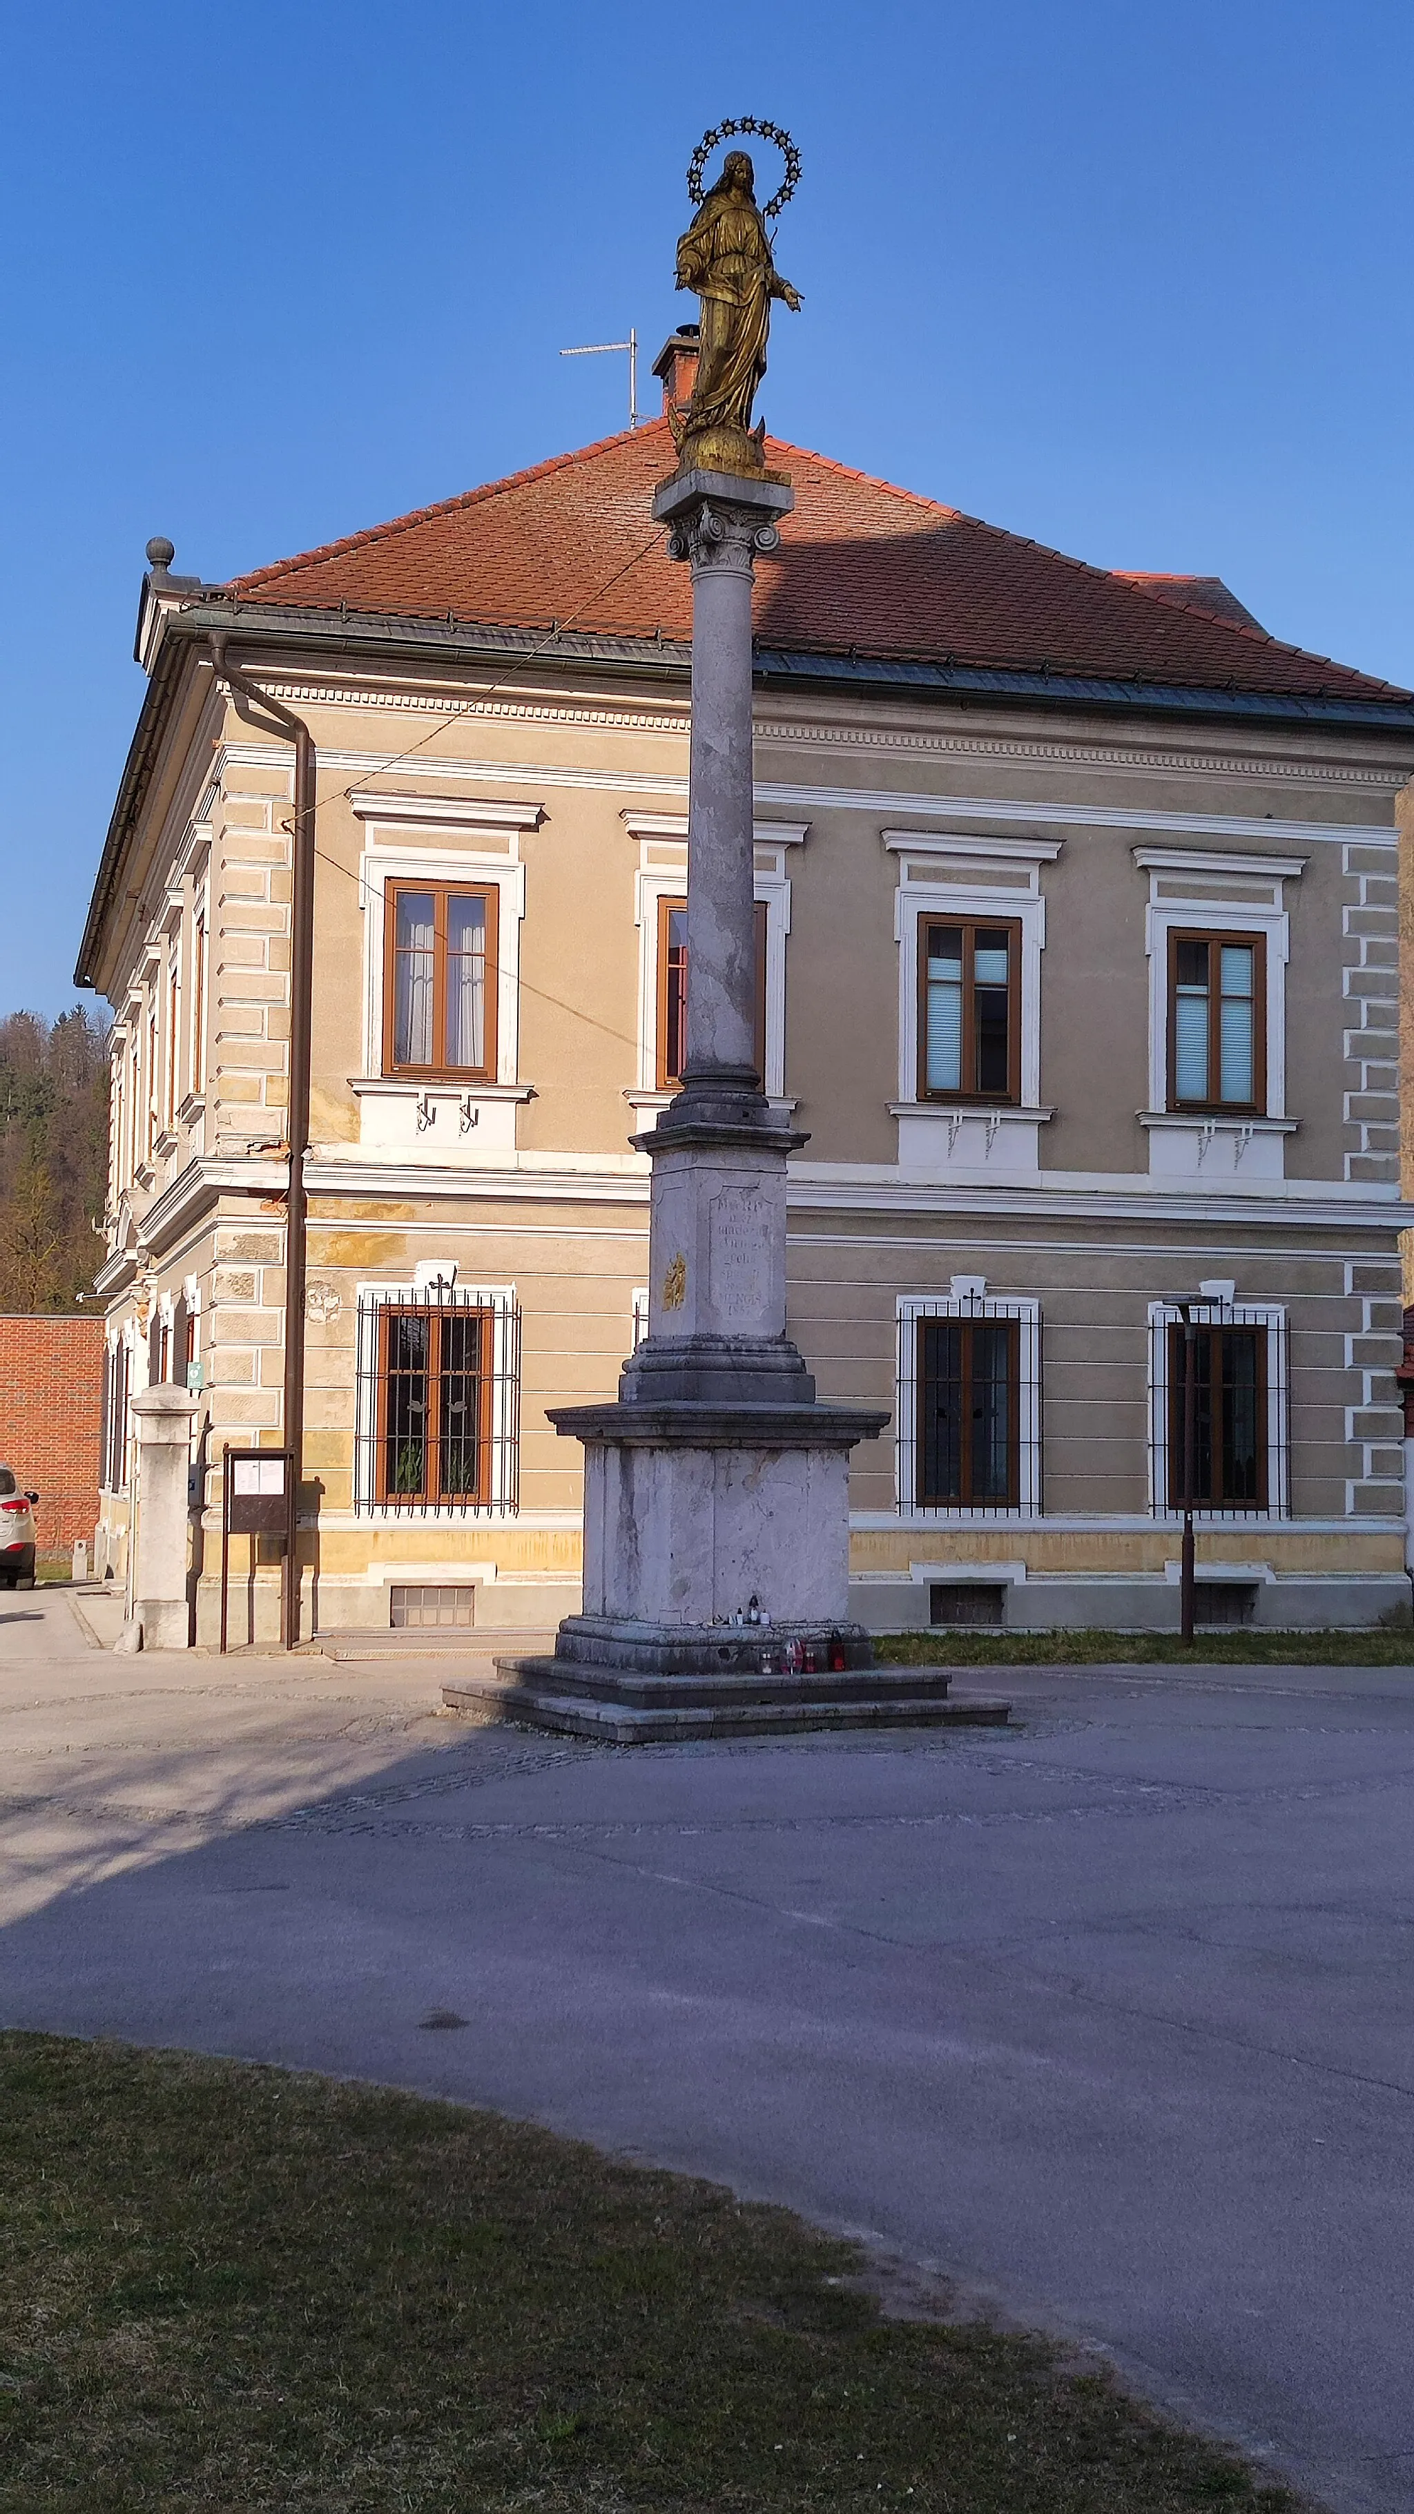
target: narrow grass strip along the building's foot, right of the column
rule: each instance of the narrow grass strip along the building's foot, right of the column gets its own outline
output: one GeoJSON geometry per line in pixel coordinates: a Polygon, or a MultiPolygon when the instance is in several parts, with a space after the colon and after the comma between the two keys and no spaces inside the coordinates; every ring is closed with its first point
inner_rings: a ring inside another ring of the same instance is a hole
{"type": "Polygon", "coordinates": [[[883,1632],[876,1659],[903,1667],[1409,1667],[1409,1624],[1369,1632],[1200,1632],[1185,1649],[1177,1632],[979,1632],[928,1624],[883,1632]]]}

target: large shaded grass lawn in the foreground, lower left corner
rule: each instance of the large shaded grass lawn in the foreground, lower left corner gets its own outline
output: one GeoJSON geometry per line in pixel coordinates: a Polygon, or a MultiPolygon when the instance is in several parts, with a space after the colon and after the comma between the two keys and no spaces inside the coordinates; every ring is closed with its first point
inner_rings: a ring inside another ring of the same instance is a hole
{"type": "Polygon", "coordinates": [[[1288,2506],[782,2210],[486,2112],[0,2034],[5,2514],[1288,2506]]]}

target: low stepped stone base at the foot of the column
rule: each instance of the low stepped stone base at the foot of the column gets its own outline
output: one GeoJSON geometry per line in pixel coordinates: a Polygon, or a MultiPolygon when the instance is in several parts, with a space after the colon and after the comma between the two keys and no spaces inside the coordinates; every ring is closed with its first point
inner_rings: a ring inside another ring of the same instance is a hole
{"type": "Polygon", "coordinates": [[[443,1684],[443,1704],[481,1720],[599,1737],[606,1745],[662,1745],[692,1737],[788,1737],[803,1730],[1004,1727],[1006,1702],[949,1699],[946,1667],[873,1667],[860,1627],[772,1627],[770,1634],[637,1627],[606,1617],[569,1617],[554,1657],[498,1657],[443,1684]],[[845,1667],[813,1674],[762,1674],[762,1647],[803,1639],[820,1652],[843,1647],[845,1667]]]}

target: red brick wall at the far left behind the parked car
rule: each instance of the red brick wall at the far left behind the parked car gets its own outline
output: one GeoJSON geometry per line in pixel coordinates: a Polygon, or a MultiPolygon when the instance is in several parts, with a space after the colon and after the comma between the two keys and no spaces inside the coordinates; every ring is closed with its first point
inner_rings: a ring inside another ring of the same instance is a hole
{"type": "Polygon", "coordinates": [[[40,1496],[40,1554],[93,1544],[101,1410],[101,1317],[0,1317],[0,1461],[40,1496]]]}

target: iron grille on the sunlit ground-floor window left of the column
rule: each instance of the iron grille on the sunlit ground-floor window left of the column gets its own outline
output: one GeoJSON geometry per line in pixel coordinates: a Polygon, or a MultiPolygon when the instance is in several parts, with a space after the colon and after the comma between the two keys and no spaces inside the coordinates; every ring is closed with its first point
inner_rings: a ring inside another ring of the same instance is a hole
{"type": "Polygon", "coordinates": [[[511,1290],[375,1290],[357,1305],[355,1508],[521,1506],[521,1307],[511,1290]]]}

